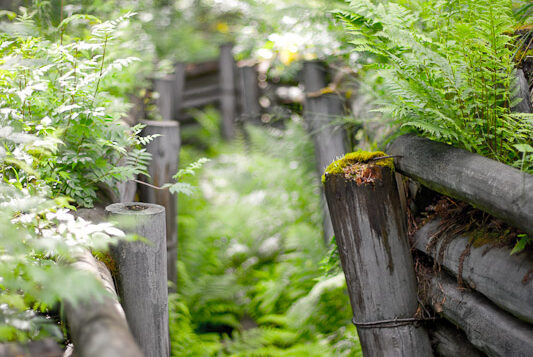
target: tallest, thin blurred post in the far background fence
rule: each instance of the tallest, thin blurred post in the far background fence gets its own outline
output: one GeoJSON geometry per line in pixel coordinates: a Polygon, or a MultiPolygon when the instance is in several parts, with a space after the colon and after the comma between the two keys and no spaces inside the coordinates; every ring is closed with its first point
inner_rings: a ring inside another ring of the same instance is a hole
{"type": "Polygon", "coordinates": [[[235,137],[235,116],[237,100],[235,96],[235,59],[233,45],[220,46],[220,109],[222,111],[222,137],[231,140],[235,137]]]}

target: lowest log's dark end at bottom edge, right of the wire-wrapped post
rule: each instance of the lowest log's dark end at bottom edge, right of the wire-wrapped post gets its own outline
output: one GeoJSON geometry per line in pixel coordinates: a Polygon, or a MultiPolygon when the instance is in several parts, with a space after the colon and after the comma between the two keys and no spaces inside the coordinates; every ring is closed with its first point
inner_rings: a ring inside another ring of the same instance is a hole
{"type": "Polygon", "coordinates": [[[483,357],[485,354],[475,348],[465,334],[452,324],[438,321],[429,330],[433,351],[441,357],[483,357]]]}

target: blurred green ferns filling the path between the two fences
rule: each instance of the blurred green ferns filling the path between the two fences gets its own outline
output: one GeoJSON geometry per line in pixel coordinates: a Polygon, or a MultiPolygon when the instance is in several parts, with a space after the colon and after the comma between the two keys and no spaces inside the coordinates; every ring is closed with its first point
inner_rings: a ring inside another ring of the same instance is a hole
{"type": "MultiPolygon", "coordinates": [[[[180,197],[173,356],[358,356],[342,273],[324,276],[319,185],[300,123],[217,145],[180,197]]],[[[182,161],[201,155],[182,149],[182,161]]],[[[184,163],[186,164],[186,162],[184,163]]]]}

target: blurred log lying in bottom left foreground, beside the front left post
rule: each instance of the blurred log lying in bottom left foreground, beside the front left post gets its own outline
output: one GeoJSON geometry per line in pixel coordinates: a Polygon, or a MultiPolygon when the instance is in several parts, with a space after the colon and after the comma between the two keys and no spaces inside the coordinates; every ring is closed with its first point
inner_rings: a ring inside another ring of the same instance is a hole
{"type": "Polygon", "coordinates": [[[88,296],[77,303],[65,303],[76,356],[143,356],[130,332],[113,278],[105,264],[97,261],[89,251],[84,251],[76,257],[72,266],[92,274],[109,293],[105,297],[88,296]]]}

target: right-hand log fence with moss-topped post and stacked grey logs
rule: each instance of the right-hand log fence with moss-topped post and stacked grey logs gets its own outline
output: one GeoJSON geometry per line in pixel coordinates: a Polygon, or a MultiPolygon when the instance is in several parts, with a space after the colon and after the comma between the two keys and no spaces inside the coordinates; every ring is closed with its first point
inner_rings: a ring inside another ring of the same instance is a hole
{"type": "Polygon", "coordinates": [[[387,154],[394,157],[396,175],[383,169],[384,159],[350,161],[348,156],[325,174],[326,197],[365,356],[530,356],[531,252],[511,255],[509,248],[476,246],[461,235],[435,241],[441,226],[433,220],[414,234],[411,249],[418,258],[414,266],[405,248],[407,212],[398,190],[403,184],[397,180],[414,180],[531,234],[533,176],[412,135],[393,141],[387,154]],[[387,191],[392,194],[383,194],[387,191]],[[369,301],[375,304],[373,314],[365,313],[369,301]],[[398,310],[409,304],[409,309],[398,310]],[[421,314],[426,308],[430,311],[421,314]],[[398,346],[396,350],[369,348],[389,338],[393,328],[387,323],[398,322],[425,331],[432,349],[424,350],[424,342],[413,350],[401,338],[390,342],[398,346]]]}

